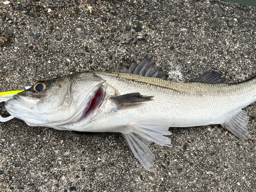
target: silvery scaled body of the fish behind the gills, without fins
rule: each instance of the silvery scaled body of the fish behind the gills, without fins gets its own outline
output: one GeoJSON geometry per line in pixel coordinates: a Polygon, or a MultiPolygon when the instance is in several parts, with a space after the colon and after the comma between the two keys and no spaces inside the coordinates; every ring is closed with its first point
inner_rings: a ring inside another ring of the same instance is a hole
{"type": "Polygon", "coordinates": [[[118,94],[139,92],[154,96],[138,108],[117,110],[112,100],[91,121],[74,127],[83,132],[122,132],[125,124],[145,119],[168,119],[170,127],[223,124],[256,101],[256,80],[236,84],[170,82],[127,73],[97,73],[103,86],[118,94]]]}

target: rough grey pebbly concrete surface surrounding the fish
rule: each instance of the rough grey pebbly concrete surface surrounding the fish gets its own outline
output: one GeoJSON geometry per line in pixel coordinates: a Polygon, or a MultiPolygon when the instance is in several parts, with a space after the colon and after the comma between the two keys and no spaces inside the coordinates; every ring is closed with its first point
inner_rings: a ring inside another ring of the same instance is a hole
{"type": "MultiPolygon", "coordinates": [[[[214,70],[243,81],[256,75],[255,11],[214,0],[12,1],[0,6],[0,90],[119,71],[146,54],[174,80],[214,70]]],[[[244,141],[220,125],[170,128],[171,147],[151,145],[151,173],[121,134],[12,119],[0,128],[0,191],[256,191],[255,104],[245,110],[244,141]]]]}

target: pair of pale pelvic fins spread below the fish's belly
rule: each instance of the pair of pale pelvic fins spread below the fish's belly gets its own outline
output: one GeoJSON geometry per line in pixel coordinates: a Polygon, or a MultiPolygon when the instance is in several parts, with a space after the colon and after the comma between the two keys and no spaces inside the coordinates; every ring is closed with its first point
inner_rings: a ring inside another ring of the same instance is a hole
{"type": "Polygon", "coordinates": [[[163,135],[171,135],[166,119],[151,119],[133,122],[126,125],[123,136],[131,147],[134,156],[147,169],[151,170],[155,156],[148,148],[151,142],[169,146],[170,139],[163,135]]]}

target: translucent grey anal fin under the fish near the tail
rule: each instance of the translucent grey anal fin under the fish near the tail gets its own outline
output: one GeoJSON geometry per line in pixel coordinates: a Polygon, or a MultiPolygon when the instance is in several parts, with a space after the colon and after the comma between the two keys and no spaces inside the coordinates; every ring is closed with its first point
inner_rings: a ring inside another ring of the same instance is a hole
{"type": "Polygon", "coordinates": [[[247,131],[247,113],[243,110],[233,115],[225,123],[222,124],[224,128],[236,135],[239,139],[248,139],[247,131]]]}

